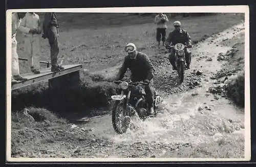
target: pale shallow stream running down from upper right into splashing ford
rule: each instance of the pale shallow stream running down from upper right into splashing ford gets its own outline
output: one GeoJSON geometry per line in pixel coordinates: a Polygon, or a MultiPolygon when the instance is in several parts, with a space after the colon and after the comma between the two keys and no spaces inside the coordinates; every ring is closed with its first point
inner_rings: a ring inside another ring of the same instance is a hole
{"type": "MultiPolygon", "coordinates": [[[[148,118],[144,122],[136,117],[133,118],[132,126],[125,134],[117,134],[114,131],[111,115],[95,118],[85,126],[92,129],[90,133],[95,137],[116,143],[141,141],[200,144],[216,141],[222,135],[243,134],[244,109],[233,106],[225,98],[216,100],[212,94],[206,92],[215,82],[209,79],[211,73],[216,73],[221,69],[222,63],[217,61],[217,56],[231,49],[231,46],[220,45],[220,42],[224,38],[230,39],[241,33],[242,31],[234,30],[234,28],[241,27],[242,25],[235,26],[220,33],[218,37],[209,38],[197,45],[192,51],[196,56],[191,62],[193,68],[190,71],[202,69],[206,80],[203,80],[202,86],[197,89],[165,98],[157,117],[148,118]],[[211,57],[212,61],[196,59],[204,56],[211,57]],[[191,96],[192,93],[197,93],[197,95],[191,96]]],[[[186,71],[186,75],[189,75],[189,71],[186,71]]]]}

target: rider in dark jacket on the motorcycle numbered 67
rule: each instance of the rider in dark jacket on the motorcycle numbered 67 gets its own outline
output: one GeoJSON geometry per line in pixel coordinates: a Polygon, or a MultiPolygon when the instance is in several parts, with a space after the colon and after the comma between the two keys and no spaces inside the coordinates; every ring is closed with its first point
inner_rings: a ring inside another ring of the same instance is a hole
{"type": "MultiPolygon", "coordinates": [[[[192,47],[191,45],[191,39],[189,34],[184,30],[180,28],[181,22],[180,21],[174,21],[174,31],[170,32],[166,42],[165,42],[165,47],[166,49],[169,49],[168,45],[175,45],[177,43],[182,43],[184,45],[187,45],[187,47],[192,47]]],[[[188,51],[188,49],[185,47],[185,61],[186,61],[186,68],[190,68],[190,62],[191,62],[191,52],[188,51]]],[[[175,49],[171,48],[170,49],[170,54],[169,54],[169,62],[173,66],[173,70],[176,70],[176,57],[175,57],[175,49]]]]}

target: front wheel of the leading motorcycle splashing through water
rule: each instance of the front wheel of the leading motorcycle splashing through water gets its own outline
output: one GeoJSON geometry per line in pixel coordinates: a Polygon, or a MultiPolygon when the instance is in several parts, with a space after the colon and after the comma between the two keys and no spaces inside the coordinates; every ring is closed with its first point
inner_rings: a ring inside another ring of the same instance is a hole
{"type": "Polygon", "coordinates": [[[116,101],[112,110],[112,125],[114,130],[119,134],[125,133],[130,124],[123,110],[123,101],[116,101]]]}

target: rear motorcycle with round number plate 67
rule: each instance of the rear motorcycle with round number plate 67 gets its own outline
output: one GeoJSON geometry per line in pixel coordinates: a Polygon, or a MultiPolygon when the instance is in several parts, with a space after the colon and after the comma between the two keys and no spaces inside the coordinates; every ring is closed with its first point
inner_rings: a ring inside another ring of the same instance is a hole
{"type": "Polygon", "coordinates": [[[182,83],[184,81],[184,70],[186,66],[184,49],[187,48],[187,46],[182,43],[177,43],[175,45],[168,45],[167,48],[169,49],[169,51],[172,48],[175,49],[175,56],[176,56],[175,63],[178,71],[179,82],[182,83]]]}

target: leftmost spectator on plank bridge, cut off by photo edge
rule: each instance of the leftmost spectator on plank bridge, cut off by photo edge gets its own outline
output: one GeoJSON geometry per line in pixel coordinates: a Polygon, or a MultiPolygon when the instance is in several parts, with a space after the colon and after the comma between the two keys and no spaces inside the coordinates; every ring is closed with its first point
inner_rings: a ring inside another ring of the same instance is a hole
{"type": "MultiPolygon", "coordinates": [[[[23,13],[12,13],[12,84],[18,81],[26,81],[19,75],[19,64],[18,64],[18,54],[17,54],[17,40],[16,32],[19,29],[20,21],[25,16],[23,13]]],[[[31,30],[32,31],[32,30],[31,30]]]]}

